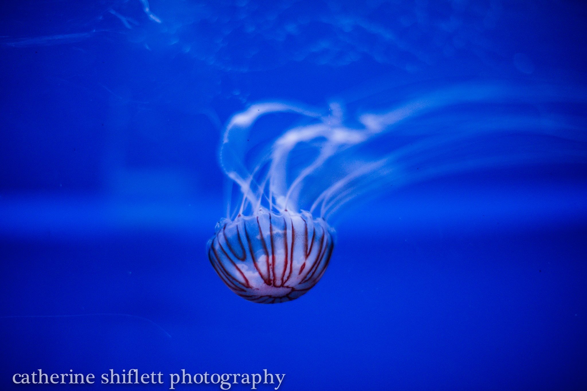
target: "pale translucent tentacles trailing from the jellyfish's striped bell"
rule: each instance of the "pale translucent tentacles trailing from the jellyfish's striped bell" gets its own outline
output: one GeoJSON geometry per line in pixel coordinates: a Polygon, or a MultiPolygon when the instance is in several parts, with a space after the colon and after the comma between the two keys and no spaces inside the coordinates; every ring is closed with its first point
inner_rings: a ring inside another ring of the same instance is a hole
{"type": "Polygon", "coordinates": [[[222,138],[221,166],[235,185],[227,217],[262,206],[328,220],[350,200],[389,185],[479,168],[585,162],[585,103],[585,91],[568,86],[492,83],[410,91],[407,98],[384,91],[331,103],[322,113],[254,104],[232,117],[222,138]],[[354,118],[345,118],[344,107],[354,118]]]}

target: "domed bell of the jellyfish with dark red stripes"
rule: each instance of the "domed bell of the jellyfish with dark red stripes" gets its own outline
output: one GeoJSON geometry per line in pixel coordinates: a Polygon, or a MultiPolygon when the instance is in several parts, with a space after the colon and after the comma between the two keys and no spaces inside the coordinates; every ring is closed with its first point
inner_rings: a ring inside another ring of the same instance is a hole
{"type": "Polygon", "coordinates": [[[309,212],[272,213],[222,219],[208,241],[218,276],[242,298],[259,303],[294,300],[324,274],[335,231],[309,212]]]}

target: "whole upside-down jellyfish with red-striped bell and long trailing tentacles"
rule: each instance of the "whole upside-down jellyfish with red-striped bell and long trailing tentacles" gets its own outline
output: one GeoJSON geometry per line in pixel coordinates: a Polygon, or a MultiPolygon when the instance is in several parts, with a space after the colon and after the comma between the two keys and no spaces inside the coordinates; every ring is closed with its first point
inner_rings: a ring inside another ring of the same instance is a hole
{"type": "Polygon", "coordinates": [[[222,134],[227,215],[208,258],[242,298],[294,300],[325,273],[336,241],[329,222],[343,206],[455,172],[584,163],[585,121],[572,111],[585,103],[568,87],[492,82],[377,91],[326,110],[252,104],[222,134]]]}

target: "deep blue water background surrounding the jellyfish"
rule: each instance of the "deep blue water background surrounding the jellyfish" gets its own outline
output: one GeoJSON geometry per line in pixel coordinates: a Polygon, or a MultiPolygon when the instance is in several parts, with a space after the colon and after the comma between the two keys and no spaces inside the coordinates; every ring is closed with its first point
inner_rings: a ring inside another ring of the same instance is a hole
{"type": "Polygon", "coordinates": [[[587,389],[585,164],[355,205],[322,281],[285,304],[237,297],[204,251],[235,112],[475,80],[585,91],[582,2],[150,10],[161,23],[138,0],[0,5],[0,389],[73,387],[12,384],[39,368],[166,375],[146,389],[265,368],[286,373],[280,390],[587,389]]]}

